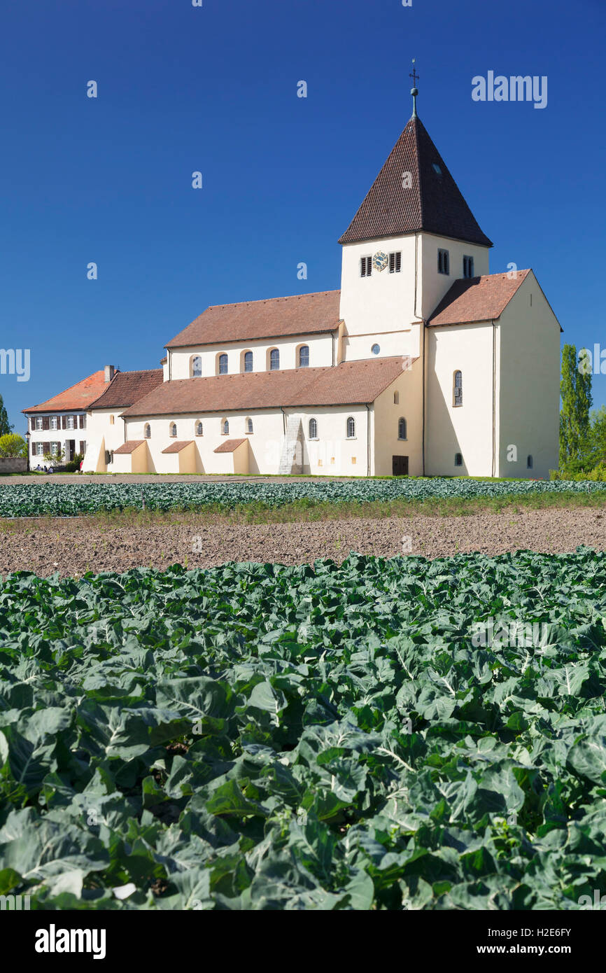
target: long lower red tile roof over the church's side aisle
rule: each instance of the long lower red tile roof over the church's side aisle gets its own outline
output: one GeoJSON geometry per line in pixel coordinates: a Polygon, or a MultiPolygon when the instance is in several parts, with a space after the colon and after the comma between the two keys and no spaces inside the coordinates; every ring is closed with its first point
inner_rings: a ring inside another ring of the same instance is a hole
{"type": "MultiPolygon", "coordinates": [[[[416,359],[412,359],[416,361],[416,359]]],[[[406,359],[372,358],[328,368],[248,372],[164,381],[124,413],[147,415],[229,413],[280,406],[339,406],[374,402],[403,371],[406,359]]]]}

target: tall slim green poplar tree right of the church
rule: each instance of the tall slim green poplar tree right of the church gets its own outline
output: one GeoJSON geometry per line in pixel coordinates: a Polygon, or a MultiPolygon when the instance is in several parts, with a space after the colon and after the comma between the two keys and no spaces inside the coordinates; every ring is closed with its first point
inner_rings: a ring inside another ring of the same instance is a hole
{"type": "Polygon", "coordinates": [[[559,414],[559,467],[584,463],[589,443],[589,410],[591,408],[591,368],[588,358],[577,348],[564,344],[562,348],[562,376],[560,381],[562,408],[559,414]]]}

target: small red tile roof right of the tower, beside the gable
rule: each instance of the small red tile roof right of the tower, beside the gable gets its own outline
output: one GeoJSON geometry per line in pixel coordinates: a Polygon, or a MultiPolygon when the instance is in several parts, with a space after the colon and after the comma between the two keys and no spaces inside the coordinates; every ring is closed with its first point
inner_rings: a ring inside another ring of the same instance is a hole
{"type": "Polygon", "coordinates": [[[496,320],[530,272],[517,270],[516,278],[507,273],[486,273],[455,280],[429,318],[429,326],[496,320]]]}

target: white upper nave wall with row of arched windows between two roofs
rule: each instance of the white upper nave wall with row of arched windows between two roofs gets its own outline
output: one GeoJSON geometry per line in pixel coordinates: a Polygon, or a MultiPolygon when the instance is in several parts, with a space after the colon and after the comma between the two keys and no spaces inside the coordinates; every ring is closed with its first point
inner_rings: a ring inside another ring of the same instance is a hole
{"type": "Polygon", "coordinates": [[[168,351],[170,355],[170,378],[192,378],[192,358],[199,355],[202,359],[202,378],[218,374],[217,358],[220,354],[228,356],[228,375],[244,372],[244,351],[253,353],[253,372],[267,372],[269,365],[267,353],[271,348],[280,352],[280,369],[299,368],[299,348],[306,344],[309,348],[309,367],[326,368],[333,365],[334,339],[330,332],[321,335],[297,335],[291,338],[276,338],[255,342],[226,342],[224,344],[205,344],[199,347],[177,348],[168,351]]]}

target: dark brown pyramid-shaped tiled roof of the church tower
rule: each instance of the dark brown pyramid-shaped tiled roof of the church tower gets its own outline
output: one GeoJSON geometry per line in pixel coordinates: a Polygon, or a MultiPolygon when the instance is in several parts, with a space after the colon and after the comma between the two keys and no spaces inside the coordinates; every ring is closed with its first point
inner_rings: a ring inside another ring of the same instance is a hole
{"type": "Polygon", "coordinates": [[[413,117],[339,243],[417,230],[492,246],[425,126],[413,117]],[[405,172],[410,172],[410,189],[402,185],[405,172]]]}

